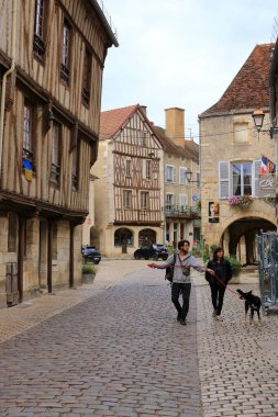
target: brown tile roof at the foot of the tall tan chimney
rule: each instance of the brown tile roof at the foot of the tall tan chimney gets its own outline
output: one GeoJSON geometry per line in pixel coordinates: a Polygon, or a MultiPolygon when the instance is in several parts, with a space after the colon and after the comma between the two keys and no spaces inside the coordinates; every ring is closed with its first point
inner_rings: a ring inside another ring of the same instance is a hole
{"type": "Polygon", "coordinates": [[[199,145],[193,143],[193,140],[185,140],[185,147],[177,146],[168,136],[166,136],[163,127],[153,126],[153,128],[158,135],[165,151],[174,154],[177,157],[185,157],[199,161],[199,145]]]}

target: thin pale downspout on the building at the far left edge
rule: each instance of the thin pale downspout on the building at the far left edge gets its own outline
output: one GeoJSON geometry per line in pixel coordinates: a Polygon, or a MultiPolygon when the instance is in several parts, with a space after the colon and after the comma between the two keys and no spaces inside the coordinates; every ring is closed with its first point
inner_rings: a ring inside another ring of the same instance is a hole
{"type": "Polygon", "coordinates": [[[11,67],[4,72],[2,78],[2,91],[1,91],[1,108],[0,108],[0,174],[2,172],[2,153],[3,153],[3,131],[4,131],[4,102],[5,102],[5,87],[7,78],[10,74],[14,71],[15,68],[15,29],[16,29],[16,14],[15,14],[15,2],[12,0],[12,41],[11,41],[11,67]]]}

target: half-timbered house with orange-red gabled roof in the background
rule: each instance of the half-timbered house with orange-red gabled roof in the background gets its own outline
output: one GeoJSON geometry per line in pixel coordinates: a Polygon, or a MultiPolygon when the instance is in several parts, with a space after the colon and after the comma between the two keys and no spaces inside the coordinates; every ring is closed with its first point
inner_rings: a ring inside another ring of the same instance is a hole
{"type": "Polygon", "coordinates": [[[101,112],[91,245],[107,257],[163,241],[163,146],[145,108],[101,112]]]}

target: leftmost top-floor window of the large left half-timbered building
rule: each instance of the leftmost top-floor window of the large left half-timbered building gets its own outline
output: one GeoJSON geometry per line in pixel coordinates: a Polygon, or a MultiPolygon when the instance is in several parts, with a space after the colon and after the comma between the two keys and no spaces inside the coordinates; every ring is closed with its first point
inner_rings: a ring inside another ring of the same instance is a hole
{"type": "Polygon", "coordinates": [[[35,2],[35,24],[34,24],[34,41],[33,41],[33,50],[34,53],[42,58],[45,53],[45,16],[46,13],[46,3],[45,0],[36,0],[35,2]]]}

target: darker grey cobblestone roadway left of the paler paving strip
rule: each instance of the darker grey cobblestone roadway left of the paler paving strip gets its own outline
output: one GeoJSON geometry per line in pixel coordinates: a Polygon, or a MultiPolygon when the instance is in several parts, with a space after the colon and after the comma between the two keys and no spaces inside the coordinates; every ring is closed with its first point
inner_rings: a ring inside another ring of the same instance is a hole
{"type": "Polygon", "coordinates": [[[196,295],[180,326],[160,271],[121,273],[4,311],[20,326],[42,306],[38,325],[0,343],[1,416],[201,417],[196,295]]]}

